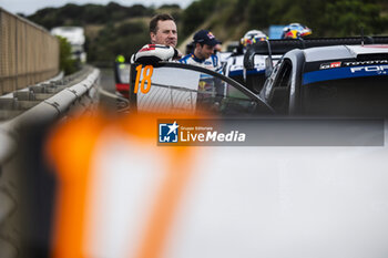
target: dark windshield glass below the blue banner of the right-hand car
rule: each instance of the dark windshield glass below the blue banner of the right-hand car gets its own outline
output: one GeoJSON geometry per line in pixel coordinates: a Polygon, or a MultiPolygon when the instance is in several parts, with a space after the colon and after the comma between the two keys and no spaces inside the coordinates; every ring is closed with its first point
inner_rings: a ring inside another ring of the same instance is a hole
{"type": "Polygon", "coordinates": [[[304,85],[306,114],[388,117],[388,76],[321,81],[304,85]]]}

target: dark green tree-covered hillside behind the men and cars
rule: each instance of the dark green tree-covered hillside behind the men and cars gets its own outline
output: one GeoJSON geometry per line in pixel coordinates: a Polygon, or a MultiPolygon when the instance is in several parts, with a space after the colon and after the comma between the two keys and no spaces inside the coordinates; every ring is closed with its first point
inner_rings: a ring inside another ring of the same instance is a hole
{"type": "MultiPolygon", "coordinates": [[[[85,29],[88,62],[111,65],[118,54],[129,58],[149,42],[149,21],[160,12],[177,21],[178,42],[185,45],[193,32],[210,29],[223,42],[239,40],[251,29],[267,31],[270,24],[300,22],[313,29],[313,37],[387,34],[386,0],[196,0],[186,9],[177,4],[160,8],[115,2],[67,4],[45,8],[27,19],[52,29],[80,25],[85,29]]],[[[181,49],[183,49],[181,48],[181,49]]]]}

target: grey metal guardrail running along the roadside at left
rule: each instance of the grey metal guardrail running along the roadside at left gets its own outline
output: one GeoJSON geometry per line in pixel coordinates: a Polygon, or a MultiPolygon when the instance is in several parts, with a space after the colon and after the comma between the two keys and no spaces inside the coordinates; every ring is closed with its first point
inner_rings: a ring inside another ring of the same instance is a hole
{"type": "Polygon", "coordinates": [[[0,166],[12,157],[18,143],[18,132],[23,126],[58,120],[73,109],[88,110],[98,99],[95,87],[99,79],[100,70],[86,68],[57,82],[33,85],[14,92],[12,96],[1,97],[1,111],[16,116],[0,123],[0,166]],[[23,107],[29,105],[32,107],[24,111],[23,107]]]}

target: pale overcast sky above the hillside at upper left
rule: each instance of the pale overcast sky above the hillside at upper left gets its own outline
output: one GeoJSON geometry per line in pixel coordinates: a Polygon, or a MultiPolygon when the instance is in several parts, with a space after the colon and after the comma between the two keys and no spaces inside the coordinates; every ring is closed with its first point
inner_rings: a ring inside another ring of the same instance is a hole
{"type": "MultiPolygon", "coordinates": [[[[6,9],[9,12],[17,13],[21,12],[23,14],[32,14],[37,10],[47,8],[47,7],[62,7],[67,3],[76,3],[76,4],[85,4],[85,3],[100,3],[106,4],[112,0],[0,0],[0,7],[6,9]]],[[[114,0],[122,6],[133,6],[135,3],[141,3],[143,6],[154,4],[156,7],[165,4],[165,3],[177,3],[181,8],[186,8],[193,0],[114,0]]]]}

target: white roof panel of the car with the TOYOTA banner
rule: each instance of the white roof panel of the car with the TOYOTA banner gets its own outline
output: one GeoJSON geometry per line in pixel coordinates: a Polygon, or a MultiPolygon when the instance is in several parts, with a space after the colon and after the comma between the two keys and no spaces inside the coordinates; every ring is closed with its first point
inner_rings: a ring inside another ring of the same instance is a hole
{"type": "Polygon", "coordinates": [[[303,52],[306,62],[357,59],[363,54],[388,54],[388,44],[317,47],[303,52]]]}

